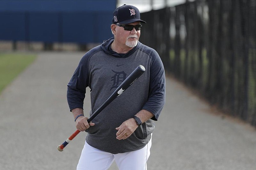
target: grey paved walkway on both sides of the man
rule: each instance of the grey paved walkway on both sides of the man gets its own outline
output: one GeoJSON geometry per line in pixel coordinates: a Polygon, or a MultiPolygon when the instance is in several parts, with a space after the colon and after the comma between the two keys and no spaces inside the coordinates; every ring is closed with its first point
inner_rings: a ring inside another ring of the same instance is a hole
{"type": "MultiPolygon", "coordinates": [[[[57,146],[76,130],[66,89],[83,54],[40,53],[2,92],[1,170],[76,169],[86,133],[63,152],[57,146]]],[[[256,169],[255,128],[213,114],[208,104],[172,79],[167,79],[166,95],[148,170],[256,169]]],[[[90,110],[88,99],[85,112],[90,110]]],[[[115,163],[110,170],[117,170],[115,163]]]]}

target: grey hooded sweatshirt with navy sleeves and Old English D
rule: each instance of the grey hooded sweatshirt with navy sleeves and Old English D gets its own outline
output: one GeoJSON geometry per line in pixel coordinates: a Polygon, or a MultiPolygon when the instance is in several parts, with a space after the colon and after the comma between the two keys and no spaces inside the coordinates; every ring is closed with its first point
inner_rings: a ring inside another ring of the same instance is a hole
{"type": "Polygon", "coordinates": [[[165,102],[165,74],[163,63],[156,50],[138,42],[126,54],[118,54],[110,48],[114,37],[88,51],[80,60],[68,82],[67,99],[70,111],[82,108],[86,87],[90,88],[91,111],[95,112],[116,88],[139,65],[146,71],[122,95],[101,111],[86,130],[86,142],[94,148],[112,154],[143,148],[156,128],[153,124],[165,102]],[[142,123],[125,140],[116,139],[116,128],[125,120],[145,109],[154,117],[142,123]]]}

